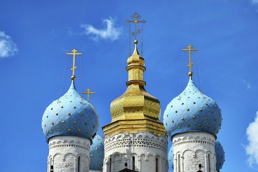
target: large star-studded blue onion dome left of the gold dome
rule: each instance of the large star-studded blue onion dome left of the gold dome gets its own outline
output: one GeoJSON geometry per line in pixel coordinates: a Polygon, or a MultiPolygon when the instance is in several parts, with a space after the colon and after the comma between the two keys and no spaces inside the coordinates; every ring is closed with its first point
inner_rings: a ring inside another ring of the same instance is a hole
{"type": "Polygon", "coordinates": [[[53,101],[42,116],[42,130],[46,139],[57,135],[76,135],[92,138],[99,128],[95,108],[79,95],[74,83],[62,97],[53,101]]]}

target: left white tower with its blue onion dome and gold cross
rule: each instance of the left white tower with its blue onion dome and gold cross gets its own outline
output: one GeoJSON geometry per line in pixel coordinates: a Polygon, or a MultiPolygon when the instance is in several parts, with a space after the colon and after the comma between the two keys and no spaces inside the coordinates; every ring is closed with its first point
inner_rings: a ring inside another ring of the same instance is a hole
{"type": "MultiPolygon", "coordinates": [[[[71,54],[79,54],[76,51],[71,54]]],[[[49,146],[48,172],[51,165],[55,172],[89,172],[89,149],[99,120],[95,108],[75,89],[74,64],[71,87],[46,108],[42,117],[49,146]]]]}

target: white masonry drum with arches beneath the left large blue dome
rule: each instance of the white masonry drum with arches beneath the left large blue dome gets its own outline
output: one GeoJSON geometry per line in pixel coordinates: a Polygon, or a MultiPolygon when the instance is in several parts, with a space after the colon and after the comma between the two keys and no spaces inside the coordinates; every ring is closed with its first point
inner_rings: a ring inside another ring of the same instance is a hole
{"type": "Polygon", "coordinates": [[[91,141],[80,136],[61,135],[49,139],[48,172],[89,172],[91,141]],[[80,162],[78,162],[80,159],[80,162]],[[78,167],[79,163],[79,167],[78,167]]]}

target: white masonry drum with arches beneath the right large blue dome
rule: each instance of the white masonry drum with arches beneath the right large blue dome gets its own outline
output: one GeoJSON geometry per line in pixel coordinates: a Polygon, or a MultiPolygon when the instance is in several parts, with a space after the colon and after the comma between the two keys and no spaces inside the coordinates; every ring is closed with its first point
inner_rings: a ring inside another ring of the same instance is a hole
{"type": "Polygon", "coordinates": [[[173,136],[174,172],[217,172],[215,136],[202,131],[187,131],[173,136]]]}

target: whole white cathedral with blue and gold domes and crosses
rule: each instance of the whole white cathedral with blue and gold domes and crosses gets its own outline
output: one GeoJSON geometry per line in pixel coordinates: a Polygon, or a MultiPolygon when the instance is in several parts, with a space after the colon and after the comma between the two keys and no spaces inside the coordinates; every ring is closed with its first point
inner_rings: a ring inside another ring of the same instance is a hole
{"type": "Polygon", "coordinates": [[[144,58],[138,52],[138,41],[134,44],[127,59],[127,89],[110,105],[112,121],[102,127],[104,137],[97,134],[95,107],[75,88],[75,55],[81,53],[75,49],[67,53],[74,57],[71,86],[42,117],[49,148],[47,172],[220,171],[225,159],[216,136],[222,124],[221,110],[193,82],[191,50],[195,49],[187,47],[189,82],[167,104],[161,122],[160,102],[144,88],[144,58]]]}

